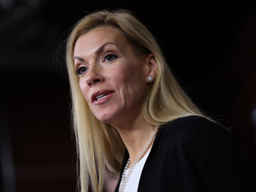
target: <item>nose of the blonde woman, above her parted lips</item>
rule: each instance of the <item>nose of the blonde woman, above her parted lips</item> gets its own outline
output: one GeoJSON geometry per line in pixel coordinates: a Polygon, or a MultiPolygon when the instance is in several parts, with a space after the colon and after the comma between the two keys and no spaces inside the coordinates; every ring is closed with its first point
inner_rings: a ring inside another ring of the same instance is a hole
{"type": "Polygon", "coordinates": [[[91,65],[86,74],[86,84],[92,87],[98,83],[104,82],[104,77],[101,72],[100,66],[97,64],[91,65]]]}

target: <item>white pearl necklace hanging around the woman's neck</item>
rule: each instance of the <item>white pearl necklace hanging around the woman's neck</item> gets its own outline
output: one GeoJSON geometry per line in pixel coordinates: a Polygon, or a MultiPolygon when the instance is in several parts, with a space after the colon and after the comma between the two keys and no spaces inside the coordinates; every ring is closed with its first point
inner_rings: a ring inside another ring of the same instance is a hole
{"type": "Polygon", "coordinates": [[[119,185],[119,192],[123,192],[124,190],[124,187],[126,186],[126,183],[127,181],[129,180],[132,172],[133,172],[133,169],[135,168],[135,165],[139,162],[139,160],[142,158],[142,156],[145,154],[145,152],[148,150],[149,146],[152,144],[154,138],[155,138],[155,135],[158,131],[158,128],[159,126],[156,126],[155,130],[153,131],[153,134],[150,136],[149,138],[149,141],[147,142],[147,144],[145,145],[145,147],[143,148],[143,150],[141,151],[141,154],[139,154],[139,157],[136,158],[136,160],[134,161],[132,167],[128,170],[128,173],[127,173],[127,176],[125,176],[125,172],[127,171],[129,165],[130,165],[130,158],[128,158],[128,161],[124,167],[124,170],[123,170],[123,175],[122,175],[122,178],[121,178],[121,181],[120,181],[120,185],[119,185]]]}

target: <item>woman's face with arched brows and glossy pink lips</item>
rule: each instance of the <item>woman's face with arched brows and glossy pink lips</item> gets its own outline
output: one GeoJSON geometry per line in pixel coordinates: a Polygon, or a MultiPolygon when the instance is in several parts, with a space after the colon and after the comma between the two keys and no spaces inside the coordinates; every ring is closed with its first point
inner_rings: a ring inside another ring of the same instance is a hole
{"type": "Polygon", "coordinates": [[[149,55],[136,56],[117,28],[97,27],[75,43],[79,85],[95,117],[112,125],[135,120],[146,93],[149,55]]]}

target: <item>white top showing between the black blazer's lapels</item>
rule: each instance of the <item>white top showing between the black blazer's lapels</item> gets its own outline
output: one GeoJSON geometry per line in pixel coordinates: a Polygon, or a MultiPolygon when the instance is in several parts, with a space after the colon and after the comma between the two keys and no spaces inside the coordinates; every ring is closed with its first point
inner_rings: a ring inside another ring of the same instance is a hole
{"type": "MultiPolygon", "coordinates": [[[[123,192],[136,192],[138,190],[139,186],[139,179],[142,172],[142,169],[144,167],[144,164],[149,156],[149,152],[151,151],[151,148],[148,150],[148,152],[139,160],[139,162],[135,165],[132,174],[130,175],[130,178],[128,179],[126,186],[124,188],[123,192]]],[[[127,169],[125,171],[125,174],[128,173],[127,169]]]]}

